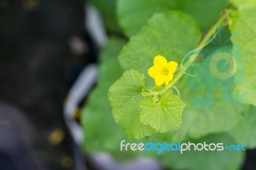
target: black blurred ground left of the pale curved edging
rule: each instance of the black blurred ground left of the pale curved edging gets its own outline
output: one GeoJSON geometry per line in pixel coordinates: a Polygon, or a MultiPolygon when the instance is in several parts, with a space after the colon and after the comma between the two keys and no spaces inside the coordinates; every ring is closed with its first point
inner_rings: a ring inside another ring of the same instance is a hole
{"type": "MultiPolygon", "coordinates": [[[[0,101],[28,118],[35,137],[32,151],[45,169],[74,166],[63,103],[78,73],[95,61],[84,29],[84,4],[85,0],[0,0],[0,101]]],[[[12,109],[6,111],[3,105],[3,120],[12,119],[12,109]]],[[[26,126],[22,118],[13,122],[17,129],[26,126]]],[[[0,143],[6,139],[1,135],[0,143]]],[[[0,153],[8,155],[1,147],[0,153]]],[[[0,162],[13,160],[0,154],[0,162]]]]}

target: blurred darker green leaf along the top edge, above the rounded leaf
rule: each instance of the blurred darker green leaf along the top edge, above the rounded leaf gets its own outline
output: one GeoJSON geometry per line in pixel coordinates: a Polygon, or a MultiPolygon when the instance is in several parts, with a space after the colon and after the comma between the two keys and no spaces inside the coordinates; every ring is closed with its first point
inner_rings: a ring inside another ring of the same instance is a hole
{"type": "MultiPolygon", "coordinates": [[[[206,30],[220,17],[221,11],[227,4],[226,0],[118,0],[117,13],[120,26],[128,36],[138,33],[155,13],[170,10],[188,13],[195,18],[203,30],[206,30]]],[[[186,32],[182,31],[182,33],[186,32]]]]}

